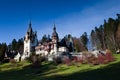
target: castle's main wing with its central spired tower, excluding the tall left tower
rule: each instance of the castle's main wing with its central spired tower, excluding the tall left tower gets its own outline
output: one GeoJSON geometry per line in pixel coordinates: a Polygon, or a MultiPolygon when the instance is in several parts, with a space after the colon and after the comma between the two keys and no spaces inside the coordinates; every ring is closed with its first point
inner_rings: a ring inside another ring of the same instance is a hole
{"type": "Polygon", "coordinates": [[[40,54],[41,56],[52,56],[58,55],[60,52],[68,52],[67,47],[59,46],[59,37],[56,32],[56,27],[54,25],[53,33],[52,33],[52,41],[39,44],[36,46],[36,54],[40,54]]]}

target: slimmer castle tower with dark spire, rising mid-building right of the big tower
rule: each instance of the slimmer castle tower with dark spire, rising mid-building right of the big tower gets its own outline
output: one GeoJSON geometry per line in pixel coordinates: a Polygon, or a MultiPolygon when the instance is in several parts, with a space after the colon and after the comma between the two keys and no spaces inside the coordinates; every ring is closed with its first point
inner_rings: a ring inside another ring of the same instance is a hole
{"type": "Polygon", "coordinates": [[[58,33],[56,32],[56,27],[54,24],[53,33],[52,33],[52,42],[54,44],[54,53],[55,54],[57,54],[57,51],[58,51],[58,40],[59,40],[59,37],[58,37],[58,33]]]}

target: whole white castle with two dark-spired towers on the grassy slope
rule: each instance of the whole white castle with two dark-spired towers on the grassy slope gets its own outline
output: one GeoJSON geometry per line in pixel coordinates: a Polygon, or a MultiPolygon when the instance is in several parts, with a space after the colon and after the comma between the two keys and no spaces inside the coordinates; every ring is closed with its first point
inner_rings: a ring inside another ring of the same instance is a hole
{"type": "Polygon", "coordinates": [[[30,22],[29,28],[24,37],[24,52],[21,59],[24,60],[25,58],[30,57],[32,52],[35,52],[37,55],[48,56],[56,55],[61,52],[69,52],[70,45],[73,49],[72,38],[70,38],[69,41],[65,41],[64,38],[59,40],[55,24],[51,38],[52,39],[48,39],[44,43],[41,41],[38,42],[37,32],[32,30],[32,24],[30,22]]]}

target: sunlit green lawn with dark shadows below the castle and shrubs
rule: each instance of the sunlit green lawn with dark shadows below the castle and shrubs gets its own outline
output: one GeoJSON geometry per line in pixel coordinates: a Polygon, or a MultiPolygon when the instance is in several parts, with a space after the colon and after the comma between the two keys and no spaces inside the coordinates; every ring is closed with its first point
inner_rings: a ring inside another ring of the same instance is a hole
{"type": "Polygon", "coordinates": [[[47,62],[32,68],[28,62],[0,65],[0,80],[120,80],[120,54],[116,61],[105,65],[66,66],[47,62]]]}

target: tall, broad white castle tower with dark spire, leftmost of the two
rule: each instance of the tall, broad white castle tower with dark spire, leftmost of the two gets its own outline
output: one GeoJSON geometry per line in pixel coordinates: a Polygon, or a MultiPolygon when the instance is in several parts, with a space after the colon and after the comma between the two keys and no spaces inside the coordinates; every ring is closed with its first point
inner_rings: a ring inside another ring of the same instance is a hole
{"type": "Polygon", "coordinates": [[[32,24],[29,23],[29,28],[27,30],[27,33],[24,37],[24,57],[29,57],[31,52],[35,51],[35,46],[37,46],[38,40],[37,40],[37,32],[33,32],[32,30],[32,24]]]}

